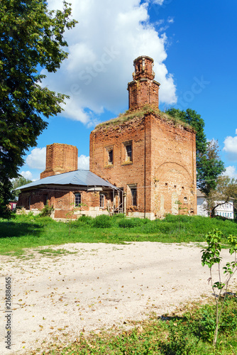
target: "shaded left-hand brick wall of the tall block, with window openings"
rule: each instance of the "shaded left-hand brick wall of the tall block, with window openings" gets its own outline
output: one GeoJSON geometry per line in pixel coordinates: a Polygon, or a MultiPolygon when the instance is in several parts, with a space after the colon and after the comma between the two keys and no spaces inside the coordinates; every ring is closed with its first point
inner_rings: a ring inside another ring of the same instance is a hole
{"type": "Polygon", "coordinates": [[[90,136],[90,166],[92,173],[101,178],[109,180],[116,187],[123,188],[128,192],[127,209],[144,211],[144,167],[145,167],[145,145],[144,145],[144,119],[133,119],[132,121],[95,129],[90,136]],[[132,141],[133,161],[125,162],[123,159],[125,146],[123,143],[132,141]],[[114,164],[106,165],[106,148],[114,150],[114,164]],[[137,184],[138,187],[138,208],[131,207],[130,189],[127,185],[137,184]]]}

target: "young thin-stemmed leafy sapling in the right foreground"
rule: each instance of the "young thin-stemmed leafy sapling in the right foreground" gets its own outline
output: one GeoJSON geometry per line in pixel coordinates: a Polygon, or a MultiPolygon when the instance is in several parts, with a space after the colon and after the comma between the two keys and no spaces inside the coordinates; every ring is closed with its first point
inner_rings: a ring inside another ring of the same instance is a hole
{"type": "Polygon", "coordinates": [[[219,322],[221,320],[221,313],[224,309],[224,302],[226,300],[228,285],[233,277],[234,273],[237,270],[237,237],[229,235],[227,237],[228,245],[230,246],[229,253],[233,255],[234,260],[227,262],[226,266],[222,267],[221,272],[221,241],[223,234],[219,229],[214,229],[214,231],[206,234],[206,249],[202,249],[202,266],[207,265],[210,269],[210,278],[211,288],[214,293],[214,298],[216,302],[216,328],[214,331],[213,346],[216,346],[217,335],[219,330],[219,322]],[[213,268],[217,266],[218,268],[218,280],[214,282],[213,280],[213,268]],[[225,280],[222,280],[224,274],[226,277],[225,280]],[[222,277],[221,277],[222,276],[222,277]],[[223,293],[224,290],[224,293],[223,293]]]}

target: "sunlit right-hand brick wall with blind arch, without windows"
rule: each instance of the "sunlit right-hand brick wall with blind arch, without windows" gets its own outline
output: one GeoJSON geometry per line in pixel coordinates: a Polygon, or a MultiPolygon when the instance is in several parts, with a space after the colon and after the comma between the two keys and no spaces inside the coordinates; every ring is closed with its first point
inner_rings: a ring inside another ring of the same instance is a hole
{"type": "Polygon", "coordinates": [[[197,214],[195,133],[155,115],[151,125],[152,210],[197,214]]]}

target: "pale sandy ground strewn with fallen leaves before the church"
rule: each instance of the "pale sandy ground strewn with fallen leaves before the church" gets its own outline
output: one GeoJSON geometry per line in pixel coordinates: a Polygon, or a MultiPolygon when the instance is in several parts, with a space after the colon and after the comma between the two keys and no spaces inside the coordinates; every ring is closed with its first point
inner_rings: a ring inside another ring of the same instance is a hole
{"type": "MultiPolygon", "coordinates": [[[[211,295],[209,269],[194,244],[65,244],[70,253],[0,256],[0,354],[45,349],[53,337],[73,341],[82,331],[171,312],[211,295]],[[11,351],[6,349],[5,277],[12,283],[11,351]],[[66,335],[67,334],[67,335],[66,335]]],[[[224,251],[227,255],[228,251],[224,251]]],[[[126,327],[126,326],[124,326],[126,327]]]]}

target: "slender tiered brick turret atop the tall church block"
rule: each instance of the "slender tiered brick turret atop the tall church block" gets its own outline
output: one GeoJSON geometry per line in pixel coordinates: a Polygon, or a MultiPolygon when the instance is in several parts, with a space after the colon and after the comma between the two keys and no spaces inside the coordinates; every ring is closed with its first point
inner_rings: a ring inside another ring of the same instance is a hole
{"type": "Polygon", "coordinates": [[[133,111],[145,105],[158,109],[160,83],[154,80],[153,58],[140,55],[133,61],[133,65],[133,81],[128,82],[129,109],[133,111]]]}

